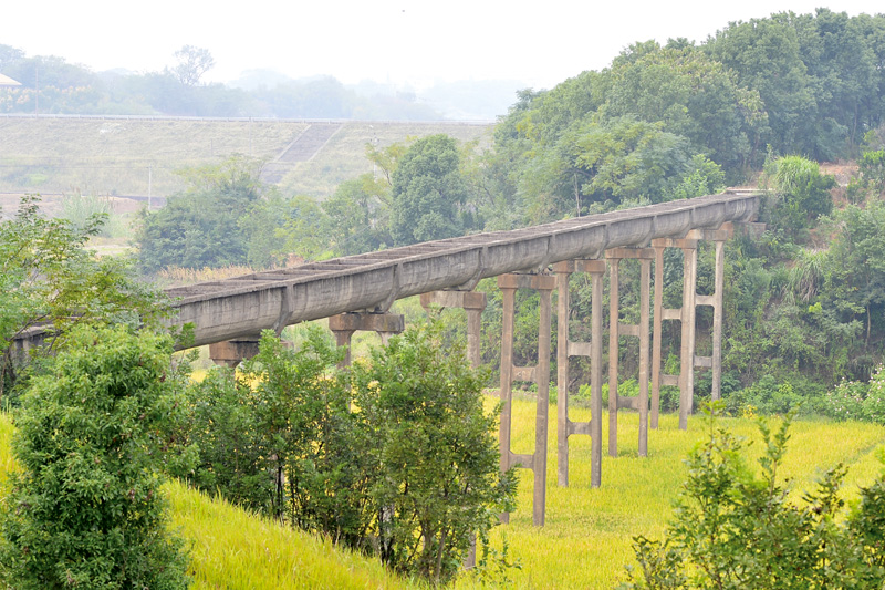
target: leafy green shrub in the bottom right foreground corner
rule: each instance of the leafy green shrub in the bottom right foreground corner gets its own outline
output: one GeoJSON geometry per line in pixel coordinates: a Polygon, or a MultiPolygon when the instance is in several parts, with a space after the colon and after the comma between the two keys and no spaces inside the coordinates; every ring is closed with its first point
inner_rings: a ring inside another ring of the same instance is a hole
{"type": "Polygon", "coordinates": [[[878,588],[885,581],[885,474],[861,489],[845,519],[839,465],[802,506],[778,480],[790,436],[788,417],[759,422],[761,476],[743,458],[745,443],[709,421],[706,443],[689,455],[688,479],[664,541],[639,536],[639,568],[623,588],[878,588]]]}

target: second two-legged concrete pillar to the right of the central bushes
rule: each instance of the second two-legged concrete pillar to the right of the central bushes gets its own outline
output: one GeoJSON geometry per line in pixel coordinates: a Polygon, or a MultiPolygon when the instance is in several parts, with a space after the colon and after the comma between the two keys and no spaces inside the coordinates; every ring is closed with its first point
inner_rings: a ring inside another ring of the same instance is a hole
{"type": "MultiPolygon", "coordinates": [[[[594,361],[592,359],[594,342],[600,343],[600,350],[602,351],[602,323],[600,323],[600,332],[594,331],[592,333],[591,342],[572,342],[569,338],[569,277],[572,272],[590,272],[594,277],[594,281],[598,279],[600,286],[602,286],[605,261],[565,260],[553,265],[553,271],[556,273],[556,290],[559,293],[556,300],[556,390],[559,392],[556,395],[556,479],[560,486],[565,487],[569,485],[569,437],[573,434],[591,435],[591,425],[593,423],[593,417],[591,417],[590,422],[572,422],[569,420],[569,358],[591,356],[591,375],[595,374],[594,372],[602,375],[602,368],[600,366],[602,364],[602,352],[598,360],[594,361]]],[[[593,291],[592,298],[593,306],[602,306],[602,294],[598,296],[597,301],[597,296],[593,291]]],[[[601,308],[598,311],[595,311],[595,307],[593,309],[592,313],[595,320],[596,314],[601,314],[602,311],[601,308]]],[[[601,318],[600,322],[602,322],[601,318]]],[[[594,387],[597,386],[591,384],[591,400],[594,398],[594,392],[598,391],[594,387]]],[[[600,396],[600,400],[602,400],[602,396],[600,396]]],[[[593,412],[593,415],[598,416],[602,408],[600,407],[600,410],[594,410],[593,412]]],[[[600,448],[601,441],[595,438],[591,443],[592,453],[595,454],[600,448]]],[[[602,454],[600,454],[600,457],[602,457],[602,454]]],[[[591,475],[591,484],[592,480],[593,477],[591,475]]],[[[598,487],[598,477],[596,478],[596,487],[598,487]]]]}

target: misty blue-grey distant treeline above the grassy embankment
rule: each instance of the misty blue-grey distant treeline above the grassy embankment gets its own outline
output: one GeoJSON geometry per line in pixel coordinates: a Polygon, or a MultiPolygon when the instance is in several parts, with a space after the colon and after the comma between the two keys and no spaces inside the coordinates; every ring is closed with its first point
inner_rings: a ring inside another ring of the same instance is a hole
{"type": "MultiPolygon", "coordinates": [[[[0,113],[58,113],[176,116],[266,116],[281,118],[360,118],[429,121],[442,115],[414,93],[357,93],[326,76],[256,83],[252,90],[204,84],[195,53],[186,46],[179,63],[162,72],[93,72],[59,56],[27,56],[0,44],[0,73],[21,86],[0,87],[0,113]]],[[[206,62],[204,62],[205,64],[206,62]]]]}

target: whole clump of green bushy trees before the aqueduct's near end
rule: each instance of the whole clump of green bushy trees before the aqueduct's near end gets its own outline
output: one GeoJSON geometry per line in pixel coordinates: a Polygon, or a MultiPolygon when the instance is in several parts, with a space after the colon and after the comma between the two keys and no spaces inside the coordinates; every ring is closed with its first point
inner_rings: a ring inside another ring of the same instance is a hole
{"type": "MultiPolygon", "coordinates": [[[[167,431],[175,474],[398,571],[452,579],[512,501],[501,476],[485,375],[440,322],[409,329],[351,372],[319,327],[298,351],[270,331],[236,375],[190,387],[167,431]],[[211,424],[207,428],[206,424],[211,424]]],[[[485,541],[483,541],[485,542],[485,541]]],[[[507,556],[499,556],[507,562],[507,556]]],[[[498,558],[490,556],[489,567],[498,558]]],[[[499,563],[500,565],[500,563],[499,563]]]]}

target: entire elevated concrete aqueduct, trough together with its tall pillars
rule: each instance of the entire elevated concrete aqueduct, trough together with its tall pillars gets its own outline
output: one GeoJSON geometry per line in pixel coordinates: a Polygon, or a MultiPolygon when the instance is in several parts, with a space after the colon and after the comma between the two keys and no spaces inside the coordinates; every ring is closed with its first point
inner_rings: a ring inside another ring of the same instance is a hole
{"type": "MultiPolygon", "coordinates": [[[[357,330],[373,330],[386,338],[402,332],[402,315],[388,313],[400,298],[420,294],[421,303],[460,307],[468,315],[468,354],[479,363],[480,317],[485,293],[473,292],[480,279],[498,277],[502,291],[501,387],[503,402],[500,426],[501,469],[511,466],[532,469],[534,498],[532,520],[543,526],[545,510],[546,439],[551,354],[551,301],[559,291],[556,313],[569,317],[569,276],[585,272],[592,281],[591,341],[569,339],[568,321],[560,321],[558,341],[558,386],[568,391],[569,358],[591,359],[591,420],[569,420],[568,395],[558,407],[559,485],[569,485],[569,437],[590,435],[591,486],[601,485],[602,465],[602,359],[603,277],[610,273],[608,338],[608,454],[617,456],[617,411],[639,412],[639,455],[648,449],[648,422],[657,427],[658,394],[662,385],[678,385],[679,427],[687,427],[694,392],[694,368],[714,372],[712,396],[719,396],[722,333],[723,245],[736,224],[752,220],[760,196],[729,190],[688,200],[670,201],[604,215],[580,217],[543,226],[451,238],[404,248],[308,263],[295,268],[257,272],[235,279],[169,289],[178,298],[178,324],[191,322],[195,345],[210,345],[219,364],[236,365],[258,351],[258,335],[264,329],[281,333],[296,322],[330,318],[330,329],[340,344],[350,342],[357,330]],[[697,294],[697,251],[700,240],[716,246],[715,293],[697,294]],[[679,309],[664,309],[664,250],[684,252],[684,292],[679,309]],[[620,321],[618,270],[624,259],[639,260],[638,324],[620,321]],[[652,261],[655,261],[654,313],[649,301],[652,261]],[[552,272],[551,272],[552,268],[552,272]],[[514,301],[518,289],[540,292],[539,362],[535,366],[513,365],[514,301]],[[712,355],[695,354],[697,306],[714,309],[712,355]],[[654,315],[654,322],[650,317],[654,315]],[[680,373],[662,373],[660,340],[664,320],[678,320],[681,329],[680,373]],[[639,394],[617,395],[616,354],[620,337],[639,341],[639,394]],[[615,353],[611,353],[615,351],[615,353]],[[650,404],[649,404],[650,372],[650,404]],[[516,454],[510,447],[510,400],[514,381],[533,381],[538,387],[535,448],[516,454]]],[[[502,516],[508,520],[508,515],[502,516]]]]}

